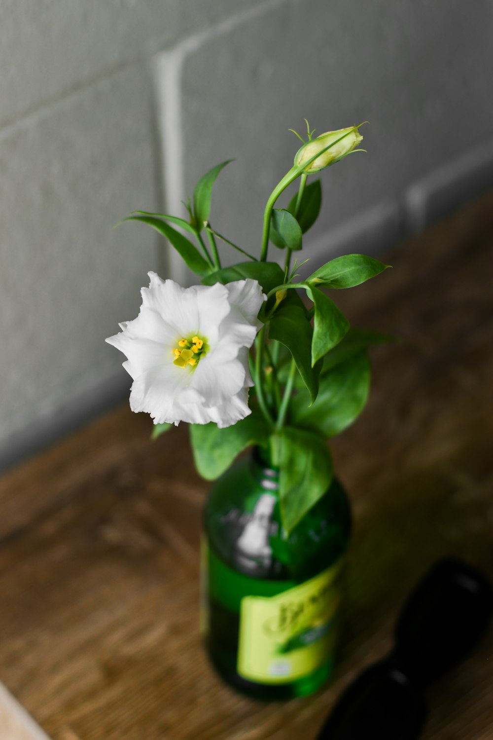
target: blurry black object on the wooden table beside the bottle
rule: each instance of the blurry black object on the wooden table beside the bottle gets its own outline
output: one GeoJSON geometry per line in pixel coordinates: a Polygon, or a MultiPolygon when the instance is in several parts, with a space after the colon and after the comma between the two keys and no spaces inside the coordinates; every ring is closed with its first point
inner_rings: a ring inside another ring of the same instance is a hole
{"type": "Polygon", "coordinates": [[[457,559],[438,561],[401,612],[395,647],[339,699],[317,740],[415,740],[427,715],[425,687],[456,665],[485,632],[493,589],[457,559]]]}

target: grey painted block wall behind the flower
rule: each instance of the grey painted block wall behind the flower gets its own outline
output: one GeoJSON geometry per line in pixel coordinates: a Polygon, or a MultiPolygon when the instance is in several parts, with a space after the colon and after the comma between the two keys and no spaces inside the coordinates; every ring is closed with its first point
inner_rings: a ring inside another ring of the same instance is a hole
{"type": "Polygon", "coordinates": [[[122,397],[103,340],[146,272],[188,280],[132,209],[211,221],[257,250],[307,117],[363,120],[367,155],[324,173],[315,265],[375,252],[491,185],[488,0],[0,0],[0,462],[122,397]]]}

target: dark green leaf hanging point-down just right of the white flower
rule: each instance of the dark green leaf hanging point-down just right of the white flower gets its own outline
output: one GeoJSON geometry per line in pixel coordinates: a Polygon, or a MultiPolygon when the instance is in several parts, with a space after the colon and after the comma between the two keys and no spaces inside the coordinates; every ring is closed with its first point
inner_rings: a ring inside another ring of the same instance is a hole
{"type": "Polygon", "coordinates": [[[311,364],[311,343],[313,329],[307,320],[305,309],[289,304],[279,306],[270,321],[269,338],[280,342],[293,355],[303,383],[310,393],[312,401],[316,399],[319,389],[319,374],[322,361],[311,364]]]}

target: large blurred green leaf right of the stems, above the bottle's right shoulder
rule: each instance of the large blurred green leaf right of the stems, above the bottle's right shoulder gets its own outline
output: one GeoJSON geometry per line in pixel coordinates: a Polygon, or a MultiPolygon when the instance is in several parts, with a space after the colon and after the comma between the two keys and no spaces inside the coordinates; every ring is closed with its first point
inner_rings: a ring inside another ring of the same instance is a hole
{"type": "Polygon", "coordinates": [[[322,375],[319,395],[308,406],[305,390],[290,401],[290,423],[335,437],[361,414],[370,392],[371,369],[366,349],[360,349],[347,360],[322,375]]]}

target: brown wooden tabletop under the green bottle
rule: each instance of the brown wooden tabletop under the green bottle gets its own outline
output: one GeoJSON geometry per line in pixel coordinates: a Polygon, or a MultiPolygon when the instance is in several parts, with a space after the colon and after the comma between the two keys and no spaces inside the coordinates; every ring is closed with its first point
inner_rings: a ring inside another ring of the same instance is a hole
{"type": "MultiPolygon", "coordinates": [[[[489,195],[336,296],[403,341],[373,352],[367,411],[333,443],[356,525],[341,659],[316,696],[253,702],[208,666],[207,484],[185,425],[152,443],[125,406],[0,480],[0,679],[54,740],[311,740],[435,559],[493,576],[492,242],[489,195]]],[[[490,632],[435,685],[424,740],[492,739],[492,653],[490,632]]]]}

